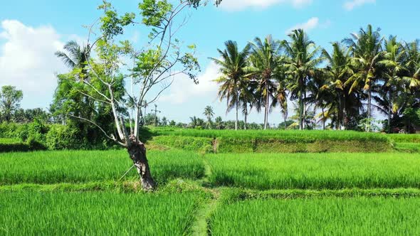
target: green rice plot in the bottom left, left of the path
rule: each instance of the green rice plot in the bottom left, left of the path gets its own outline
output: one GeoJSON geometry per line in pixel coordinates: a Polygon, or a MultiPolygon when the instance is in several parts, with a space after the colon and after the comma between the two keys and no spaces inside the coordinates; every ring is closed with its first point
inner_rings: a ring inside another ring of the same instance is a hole
{"type": "Polygon", "coordinates": [[[0,235],[186,235],[194,193],[0,194],[0,235]]]}

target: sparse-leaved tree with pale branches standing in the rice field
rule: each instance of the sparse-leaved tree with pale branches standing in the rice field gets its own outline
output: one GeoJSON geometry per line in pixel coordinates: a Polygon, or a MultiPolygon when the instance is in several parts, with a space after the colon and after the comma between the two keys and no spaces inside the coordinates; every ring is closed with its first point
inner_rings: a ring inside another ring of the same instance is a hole
{"type": "Polygon", "coordinates": [[[110,2],[104,0],[98,7],[103,16],[88,26],[88,48],[95,53],[87,52],[91,56],[85,68],[90,73],[90,80],[84,83],[95,94],[90,95],[90,99],[105,102],[112,108],[116,134],[107,134],[105,129],[85,117],[77,118],[94,124],[108,139],[127,149],[145,190],[154,189],[156,183],[150,173],[145,144],[140,141],[141,109],[155,102],[172,85],[175,76],[187,75],[197,82],[196,73],[199,71],[199,63],[194,57],[195,46],[184,46],[175,35],[187,23],[188,9],[196,8],[200,1],[174,2],[177,4],[169,4],[166,0],[142,1],[139,4],[140,23],[136,21],[135,14],[119,16],[110,2]],[[122,41],[121,38],[127,27],[140,24],[150,30],[149,43],[137,50],[130,41],[122,41]],[[124,99],[115,95],[117,86],[121,85],[120,80],[130,84],[125,85],[124,99]],[[98,89],[95,83],[106,87],[106,92],[98,89]],[[130,132],[126,128],[127,122],[130,123],[130,132]]]}

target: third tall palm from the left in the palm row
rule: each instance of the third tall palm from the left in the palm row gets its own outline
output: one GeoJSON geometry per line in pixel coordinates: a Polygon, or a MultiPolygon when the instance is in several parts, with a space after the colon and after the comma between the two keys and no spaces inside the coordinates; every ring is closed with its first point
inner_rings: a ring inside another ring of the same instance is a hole
{"type": "Polygon", "coordinates": [[[289,35],[290,41],[283,41],[285,67],[290,75],[289,90],[292,99],[298,99],[299,106],[299,129],[305,129],[306,109],[306,86],[313,76],[313,70],[319,65],[323,58],[319,57],[320,47],[310,41],[303,29],[292,31],[289,35]]]}

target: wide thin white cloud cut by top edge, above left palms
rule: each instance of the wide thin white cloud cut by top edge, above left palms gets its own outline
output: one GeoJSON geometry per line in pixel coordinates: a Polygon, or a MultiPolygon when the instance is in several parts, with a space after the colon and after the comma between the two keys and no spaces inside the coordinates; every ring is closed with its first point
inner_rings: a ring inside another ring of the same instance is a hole
{"type": "Polygon", "coordinates": [[[295,8],[308,6],[313,0],[224,0],[221,2],[221,8],[228,11],[240,11],[248,7],[267,8],[275,4],[291,4],[295,8]]]}

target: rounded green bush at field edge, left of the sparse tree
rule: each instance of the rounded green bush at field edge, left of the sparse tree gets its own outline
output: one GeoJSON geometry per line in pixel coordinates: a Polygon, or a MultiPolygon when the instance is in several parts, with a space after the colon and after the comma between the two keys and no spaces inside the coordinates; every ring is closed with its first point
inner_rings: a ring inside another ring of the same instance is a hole
{"type": "Polygon", "coordinates": [[[61,124],[53,124],[46,134],[46,146],[50,150],[81,149],[83,139],[78,130],[61,124]]]}

